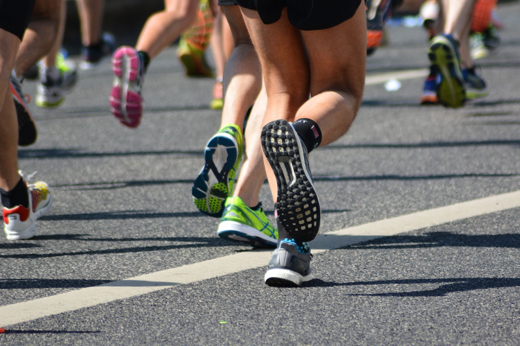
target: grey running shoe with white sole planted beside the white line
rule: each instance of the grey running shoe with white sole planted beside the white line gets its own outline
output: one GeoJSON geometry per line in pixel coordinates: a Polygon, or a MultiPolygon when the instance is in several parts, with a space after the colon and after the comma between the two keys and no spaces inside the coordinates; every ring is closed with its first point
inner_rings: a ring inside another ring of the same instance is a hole
{"type": "Polygon", "coordinates": [[[269,286],[300,286],[312,280],[312,258],[307,243],[298,245],[294,239],[285,238],[272,253],[264,275],[265,283],[269,286]]]}

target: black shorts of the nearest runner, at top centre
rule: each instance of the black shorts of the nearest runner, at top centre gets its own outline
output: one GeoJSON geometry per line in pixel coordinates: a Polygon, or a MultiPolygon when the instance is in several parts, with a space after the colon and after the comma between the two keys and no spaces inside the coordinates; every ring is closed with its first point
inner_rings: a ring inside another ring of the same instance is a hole
{"type": "Polygon", "coordinates": [[[219,0],[258,11],[265,24],[278,21],[287,7],[289,21],[300,30],[323,30],[352,18],[362,0],[219,0]]]}

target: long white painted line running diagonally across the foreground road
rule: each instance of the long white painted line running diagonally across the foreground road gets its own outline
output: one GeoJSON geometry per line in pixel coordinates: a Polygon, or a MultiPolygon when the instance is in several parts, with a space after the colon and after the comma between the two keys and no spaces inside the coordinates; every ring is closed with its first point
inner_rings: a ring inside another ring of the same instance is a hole
{"type": "MultiPolygon", "coordinates": [[[[393,236],[516,207],[520,207],[520,190],[320,234],[311,243],[311,248],[313,253],[317,254],[370,239],[393,236]]],[[[118,299],[136,297],[176,285],[263,267],[269,261],[270,254],[270,251],[252,250],[55,296],[6,305],[0,307],[0,326],[5,327],[118,299]]],[[[258,278],[258,280],[262,279],[258,278]]]]}

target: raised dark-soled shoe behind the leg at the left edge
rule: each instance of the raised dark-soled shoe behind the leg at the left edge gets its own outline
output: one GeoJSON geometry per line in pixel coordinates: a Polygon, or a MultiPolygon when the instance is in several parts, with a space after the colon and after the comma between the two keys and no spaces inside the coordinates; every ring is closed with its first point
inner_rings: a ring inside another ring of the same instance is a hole
{"type": "Polygon", "coordinates": [[[9,78],[12,98],[15,100],[16,115],[18,116],[18,145],[28,146],[36,142],[38,133],[36,123],[27,103],[30,96],[24,95],[18,78],[11,75],[9,78]]]}

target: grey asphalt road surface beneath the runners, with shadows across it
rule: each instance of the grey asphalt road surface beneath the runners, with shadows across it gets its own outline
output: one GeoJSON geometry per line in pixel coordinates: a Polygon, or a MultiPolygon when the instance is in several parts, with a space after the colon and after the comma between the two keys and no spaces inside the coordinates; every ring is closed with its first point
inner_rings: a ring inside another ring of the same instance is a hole
{"type": "MultiPolygon", "coordinates": [[[[19,151],[54,203],[36,237],[0,240],[0,344],[519,344],[519,13],[499,5],[489,95],[460,109],[419,105],[426,34],[388,28],[353,126],[311,156],[322,226],[298,288],[266,286],[270,252],[220,239],[192,202],[220,122],[211,79],[166,49],[131,130],[110,63],[81,72],[59,108],[33,108],[19,151]]],[[[267,184],[261,200],[273,219],[267,184]]]]}

